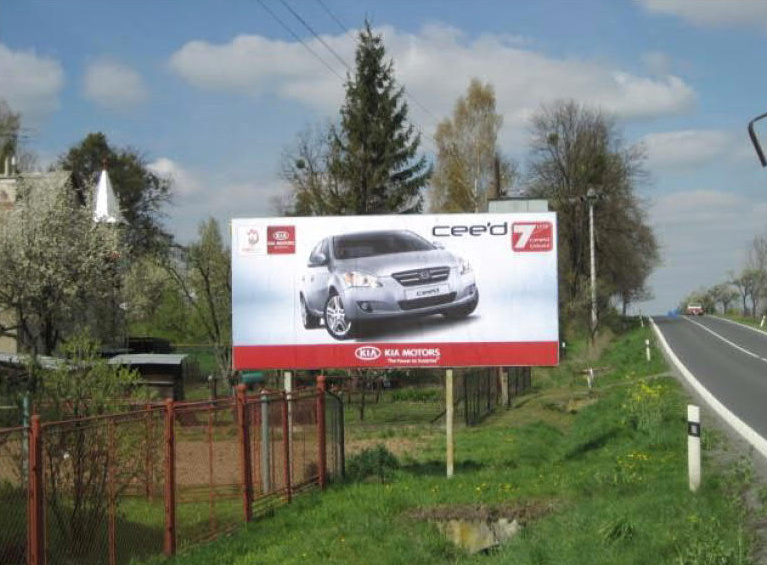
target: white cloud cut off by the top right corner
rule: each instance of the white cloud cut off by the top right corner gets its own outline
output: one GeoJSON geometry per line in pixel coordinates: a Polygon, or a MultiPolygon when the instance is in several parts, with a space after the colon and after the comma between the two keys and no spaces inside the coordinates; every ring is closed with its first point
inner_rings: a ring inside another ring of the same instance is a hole
{"type": "Polygon", "coordinates": [[[767,27],[767,3],[761,0],[637,0],[648,12],[677,16],[704,26],[767,27]]]}

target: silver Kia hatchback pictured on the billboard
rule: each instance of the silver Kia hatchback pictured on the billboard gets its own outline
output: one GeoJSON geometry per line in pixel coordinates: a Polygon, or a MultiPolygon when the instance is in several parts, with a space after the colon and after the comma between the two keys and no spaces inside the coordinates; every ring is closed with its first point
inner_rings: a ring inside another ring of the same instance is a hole
{"type": "Polygon", "coordinates": [[[460,319],[479,302],[471,265],[407,230],[327,237],[309,255],[301,279],[306,329],[354,337],[369,322],[442,314],[460,319]]]}

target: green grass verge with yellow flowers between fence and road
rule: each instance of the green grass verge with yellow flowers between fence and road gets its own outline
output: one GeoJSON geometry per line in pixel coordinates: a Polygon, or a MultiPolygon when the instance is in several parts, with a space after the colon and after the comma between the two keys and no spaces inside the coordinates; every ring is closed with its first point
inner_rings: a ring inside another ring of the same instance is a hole
{"type": "MultiPolygon", "coordinates": [[[[443,436],[416,424],[405,429],[422,432],[418,448],[399,457],[387,482],[337,484],[298,498],[174,563],[749,563],[742,505],[749,474],[742,463],[722,468],[707,455],[704,485],[689,492],[686,399],[663,376],[657,350],[645,360],[645,339],[652,339],[648,328],[613,340],[592,390],[580,374],[588,362],[577,352],[585,348],[569,344],[562,365],[536,371],[534,392],[512,410],[458,430],[450,480],[443,436]],[[549,511],[486,555],[468,555],[434,524],[413,518],[425,509],[515,504],[549,511]]],[[[390,404],[381,405],[380,418],[374,405],[369,414],[396,432],[398,403],[390,404]]],[[[347,426],[351,437],[373,437],[368,423],[349,418],[347,426]]]]}

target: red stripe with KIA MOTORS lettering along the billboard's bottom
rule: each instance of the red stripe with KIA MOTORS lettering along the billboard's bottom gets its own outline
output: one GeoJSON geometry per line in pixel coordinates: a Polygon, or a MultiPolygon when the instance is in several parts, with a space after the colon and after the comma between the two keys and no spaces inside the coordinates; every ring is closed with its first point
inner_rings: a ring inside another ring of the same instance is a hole
{"type": "Polygon", "coordinates": [[[524,343],[348,343],[334,345],[240,345],[235,370],[364,367],[554,366],[556,341],[524,343]]]}

